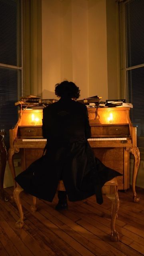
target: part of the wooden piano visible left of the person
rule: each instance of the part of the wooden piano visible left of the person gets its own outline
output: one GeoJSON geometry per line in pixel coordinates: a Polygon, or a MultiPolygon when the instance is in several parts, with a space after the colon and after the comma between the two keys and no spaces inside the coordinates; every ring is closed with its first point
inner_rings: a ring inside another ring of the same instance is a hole
{"type": "MultiPolygon", "coordinates": [[[[19,119],[10,129],[10,148],[8,163],[15,178],[13,155],[20,151],[21,167],[25,170],[34,160],[42,156],[46,140],[42,136],[42,109],[26,109],[19,111],[19,119]],[[28,141],[26,141],[28,140],[28,141]]],[[[14,186],[16,182],[14,181],[14,186]]]]}

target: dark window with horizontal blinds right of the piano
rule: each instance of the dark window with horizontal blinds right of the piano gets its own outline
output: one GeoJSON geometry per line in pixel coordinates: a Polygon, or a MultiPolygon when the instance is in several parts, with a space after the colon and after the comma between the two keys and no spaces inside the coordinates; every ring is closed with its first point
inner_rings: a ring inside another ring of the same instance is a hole
{"type": "Polygon", "coordinates": [[[144,0],[123,2],[125,96],[133,104],[130,119],[137,145],[144,149],[144,0]]]}

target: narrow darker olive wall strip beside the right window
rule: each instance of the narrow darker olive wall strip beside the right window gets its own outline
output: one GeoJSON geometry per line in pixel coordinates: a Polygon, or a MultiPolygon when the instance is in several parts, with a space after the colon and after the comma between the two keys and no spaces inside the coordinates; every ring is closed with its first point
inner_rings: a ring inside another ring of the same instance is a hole
{"type": "Polygon", "coordinates": [[[118,4],[106,1],[108,99],[122,98],[120,92],[118,4]]]}

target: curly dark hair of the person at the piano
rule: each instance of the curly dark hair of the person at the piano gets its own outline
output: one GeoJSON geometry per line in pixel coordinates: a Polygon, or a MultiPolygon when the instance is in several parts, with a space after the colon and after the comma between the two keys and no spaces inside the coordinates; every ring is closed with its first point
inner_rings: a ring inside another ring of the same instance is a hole
{"type": "Polygon", "coordinates": [[[63,81],[55,85],[55,94],[58,97],[78,99],[80,97],[80,89],[73,82],[63,81]]]}

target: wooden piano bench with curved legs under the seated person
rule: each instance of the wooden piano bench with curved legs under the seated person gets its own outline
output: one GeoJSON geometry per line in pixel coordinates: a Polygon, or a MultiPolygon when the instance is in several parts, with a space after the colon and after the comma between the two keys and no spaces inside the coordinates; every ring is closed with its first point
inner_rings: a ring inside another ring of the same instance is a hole
{"type": "MultiPolygon", "coordinates": [[[[65,191],[63,181],[60,180],[58,183],[57,190],[65,191]]],[[[22,210],[22,204],[20,200],[20,194],[23,189],[17,184],[17,187],[14,189],[14,200],[19,210],[20,219],[16,222],[16,228],[22,228],[24,225],[24,213],[22,210]]],[[[118,183],[116,178],[106,182],[102,187],[102,194],[105,194],[111,200],[111,240],[113,242],[118,242],[119,235],[115,230],[115,222],[116,217],[118,216],[118,208],[119,208],[119,197],[118,197],[118,183]]],[[[33,204],[31,206],[31,210],[33,212],[36,211],[36,197],[32,196],[33,204]]]]}

